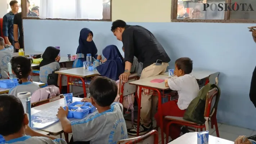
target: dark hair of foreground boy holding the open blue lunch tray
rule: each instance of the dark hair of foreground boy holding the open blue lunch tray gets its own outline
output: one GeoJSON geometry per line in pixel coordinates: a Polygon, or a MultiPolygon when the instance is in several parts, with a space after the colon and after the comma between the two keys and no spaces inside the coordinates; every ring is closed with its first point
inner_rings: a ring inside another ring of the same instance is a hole
{"type": "Polygon", "coordinates": [[[107,107],[117,96],[116,82],[107,77],[97,76],[89,85],[91,97],[100,107],[107,107]]]}

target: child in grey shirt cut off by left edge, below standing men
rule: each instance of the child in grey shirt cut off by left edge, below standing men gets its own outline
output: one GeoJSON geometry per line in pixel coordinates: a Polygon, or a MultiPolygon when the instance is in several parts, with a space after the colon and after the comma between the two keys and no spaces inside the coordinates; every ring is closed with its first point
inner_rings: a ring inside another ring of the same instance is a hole
{"type": "Polygon", "coordinates": [[[13,46],[5,45],[3,37],[0,37],[0,79],[7,79],[8,64],[13,57],[13,46]]]}

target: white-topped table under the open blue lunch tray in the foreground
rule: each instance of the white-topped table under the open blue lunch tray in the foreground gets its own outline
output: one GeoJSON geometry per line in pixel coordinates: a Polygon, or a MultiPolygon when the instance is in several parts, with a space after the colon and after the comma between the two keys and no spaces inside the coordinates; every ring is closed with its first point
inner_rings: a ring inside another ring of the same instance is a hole
{"type": "MultiPolygon", "coordinates": [[[[73,97],[73,102],[81,101],[81,99],[82,98],[73,97]]],[[[53,102],[49,102],[49,103],[31,108],[31,114],[35,114],[37,112],[44,111],[44,109],[55,106],[55,105],[64,106],[64,99],[58,99],[58,100],[55,100],[53,102]]],[[[58,110],[56,110],[56,114],[57,114],[57,112],[58,112],[58,110]]],[[[87,117],[89,117],[91,114],[96,114],[97,112],[98,111],[96,110],[94,113],[90,113],[87,117]]],[[[74,120],[79,121],[80,119],[70,118],[69,120],[70,121],[74,121],[74,120]]],[[[60,121],[57,122],[57,123],[54,123],[53,125],[50,125],[50,126],[44,128],[44,129],[41,129],[41,130],[45,131],[45,132],[49,132],[50,135],[55,135],[55,136],[63,133],[63,129],[62,129],[60,121]]],[[[68,140],[68,138],[66,138],[66,140],[68,140]]]]}

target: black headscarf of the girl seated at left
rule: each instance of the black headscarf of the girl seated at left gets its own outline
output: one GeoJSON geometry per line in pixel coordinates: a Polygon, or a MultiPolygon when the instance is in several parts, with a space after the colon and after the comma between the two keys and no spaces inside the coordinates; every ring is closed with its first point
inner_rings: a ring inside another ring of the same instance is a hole
{"type": "Polygon", "coordinates": [[[39,64],[39,67],[56,62],[55,58],[58,56],[59,51],[60,51],[59,49],[56,49],[53,46],[47,47],[44,51],[44,54],[42,55],[43,60],[39,64]]]}

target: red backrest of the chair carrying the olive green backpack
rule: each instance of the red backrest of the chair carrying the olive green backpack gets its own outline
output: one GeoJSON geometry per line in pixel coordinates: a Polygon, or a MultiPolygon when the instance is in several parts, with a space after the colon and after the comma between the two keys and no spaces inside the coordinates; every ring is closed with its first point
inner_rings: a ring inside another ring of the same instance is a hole
{"type": "Polygon", "coordinates": [[[206,95],[206,101],[205,101],[205,113],[204,113],[205,117],[211,116],[212,109],[214,108],[215,103],[218,102],[217,101],[217,99],[219,99],[218,96],[219,96],[218,89],[216,87],[208,91],[206,95]]]}

